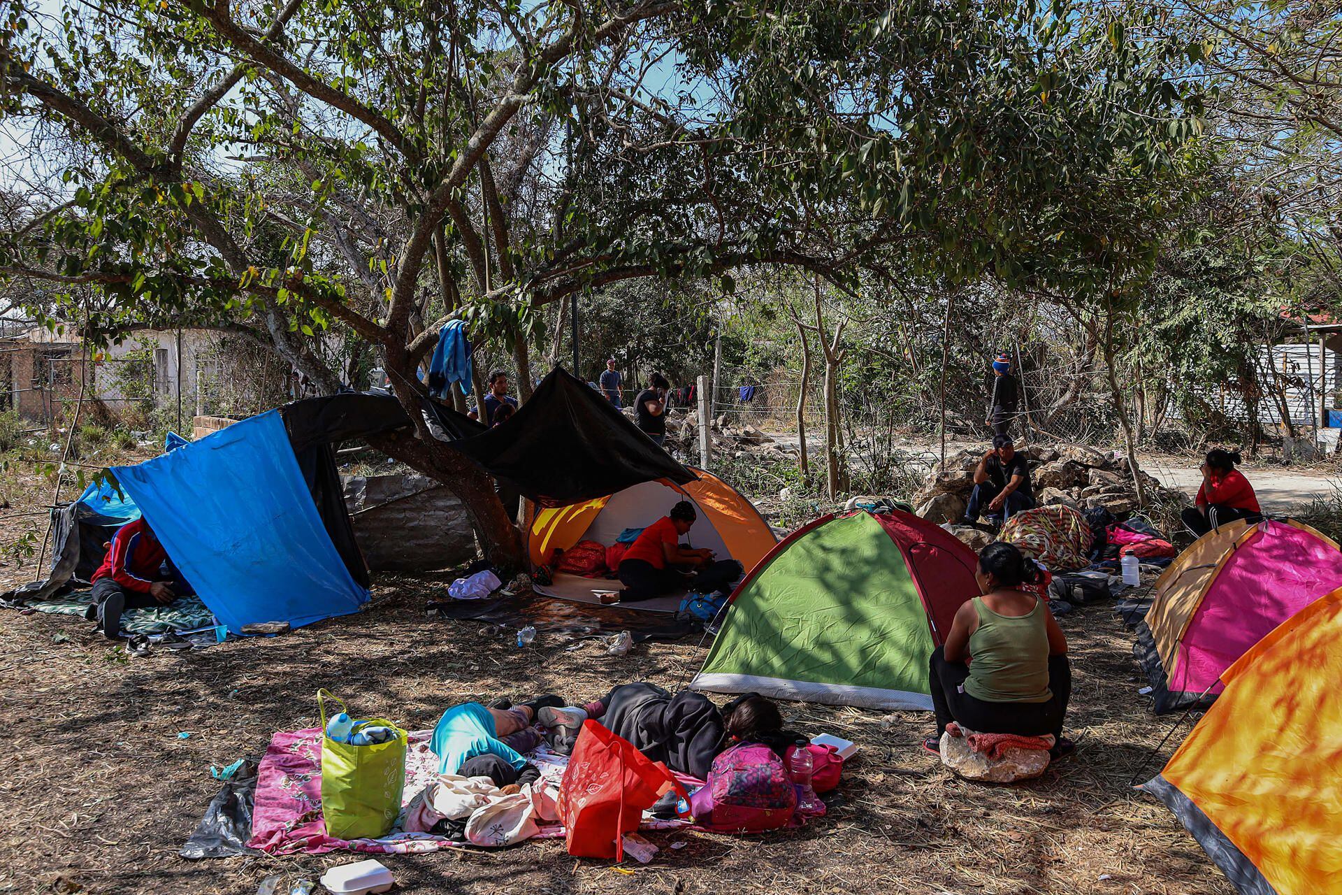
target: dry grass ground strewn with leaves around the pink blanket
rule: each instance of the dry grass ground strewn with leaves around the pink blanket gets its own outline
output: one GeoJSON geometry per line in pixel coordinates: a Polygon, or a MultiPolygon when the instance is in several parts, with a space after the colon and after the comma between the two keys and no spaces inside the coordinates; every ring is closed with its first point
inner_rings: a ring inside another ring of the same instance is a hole
{"type": "MultiPolygon", "coordinates": [[[[313,879],[358,856],[189,863],[177,849],[217,789],[211,764],[259,757],[275,730],[314,723],[330,687],[358,713],[431,726],[468,698],[556,691],[593,698],[612,683],[675,687],[705,649],[641,644],[608,657],[545,633],[425,617],[436,580],[384,578],[366,613],[289,636],[126,659],[82,620],[0,612],[0,692],[9,755],[0,774],[3,892],[254,892],[270,874],[313,879]],[[178,731],[191,737],[180,739],[178,731]]],[[[1079,753],[1023,786],[964,782],[918,749],[930,719],[785,706],[793,726],[860,743],[827,819],[794,832],[731,837],[654,833],[658,860],[632,872],[574,860],[562,841],[505,852],[388,857],[417,892],[1113,892],[1229,894],[1194,841],[1129,789],[1165,733],[1135,695],[1130,640],[1108,607],[1066,616],[1079,753]],[[670,841],[684,840],[678,851],[670,841]]],[[[1177,742],[1177,738],[1173,741],[1177,742]]],[[[1172,742],[1172,745],[1173,745],[1172,742]]],[[[1143,777],[1157,770],[1153,762],[1143,777]]]]}

